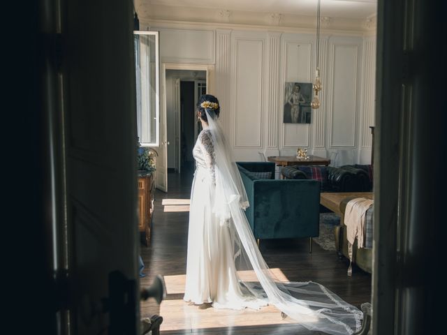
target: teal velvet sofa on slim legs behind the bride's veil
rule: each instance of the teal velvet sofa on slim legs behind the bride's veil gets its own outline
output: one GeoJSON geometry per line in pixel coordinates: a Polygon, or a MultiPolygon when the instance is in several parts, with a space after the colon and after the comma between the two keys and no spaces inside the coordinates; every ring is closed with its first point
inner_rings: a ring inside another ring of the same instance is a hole
{"type": "Polygon", "coordinates": [[[274,163],[237,162],[250,206],[245,211],[254,237],[293,239],[319,234],[320,181],[274,179],[274,163]]]}

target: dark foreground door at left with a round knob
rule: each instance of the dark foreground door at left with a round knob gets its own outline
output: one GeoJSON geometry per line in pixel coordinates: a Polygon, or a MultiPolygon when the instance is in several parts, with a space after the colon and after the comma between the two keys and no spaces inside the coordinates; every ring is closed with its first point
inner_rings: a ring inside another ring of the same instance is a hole
{"type": "Polygon", "coordinates": [[[61,1],[72,334],[136,334],[132,1],[61,1]]]}

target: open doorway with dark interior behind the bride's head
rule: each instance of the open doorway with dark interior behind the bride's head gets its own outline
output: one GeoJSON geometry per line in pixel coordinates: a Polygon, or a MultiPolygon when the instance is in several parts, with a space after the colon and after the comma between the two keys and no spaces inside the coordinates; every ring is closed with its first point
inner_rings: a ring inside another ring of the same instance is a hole
{"type": "Polygon", "coordinates": [[[166,70],[168,172],[193,172],[192,150],[201,130],[196,103],[206,90],[207,71],[166,70]]]}

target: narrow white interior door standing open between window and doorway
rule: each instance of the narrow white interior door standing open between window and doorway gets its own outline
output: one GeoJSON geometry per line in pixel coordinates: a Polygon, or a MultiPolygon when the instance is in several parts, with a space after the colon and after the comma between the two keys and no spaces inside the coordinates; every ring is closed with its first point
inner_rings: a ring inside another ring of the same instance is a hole
{"type": "Polygon", "coordinates": [[[161,67],[160,146],[156,158],[155,186],[168,192],[168,129],[166,128],[166,64],[161,67]]]}

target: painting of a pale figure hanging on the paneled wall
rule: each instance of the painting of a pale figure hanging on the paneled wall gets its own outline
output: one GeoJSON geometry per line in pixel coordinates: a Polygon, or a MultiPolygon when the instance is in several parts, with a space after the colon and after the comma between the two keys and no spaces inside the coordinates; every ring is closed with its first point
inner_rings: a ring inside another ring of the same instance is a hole
{"type": "Polygon", "coordinates": [[[284,124],[310,124],[312,82],[286,82],[284,124]]]}

